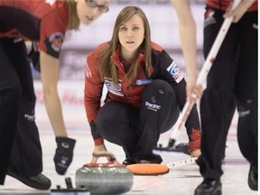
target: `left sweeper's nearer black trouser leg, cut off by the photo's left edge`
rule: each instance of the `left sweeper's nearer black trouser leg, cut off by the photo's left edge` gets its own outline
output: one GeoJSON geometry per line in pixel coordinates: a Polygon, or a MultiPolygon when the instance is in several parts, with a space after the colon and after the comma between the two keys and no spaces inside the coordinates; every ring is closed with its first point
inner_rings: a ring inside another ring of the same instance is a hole
{"type": "Polygon", "coordinates": [[[19,78],[16,74],[9,74],[15,70],[10,66],[12,62],[6,44],[0,39],[0,184],[5,182],[21,100],[19,78]]]}

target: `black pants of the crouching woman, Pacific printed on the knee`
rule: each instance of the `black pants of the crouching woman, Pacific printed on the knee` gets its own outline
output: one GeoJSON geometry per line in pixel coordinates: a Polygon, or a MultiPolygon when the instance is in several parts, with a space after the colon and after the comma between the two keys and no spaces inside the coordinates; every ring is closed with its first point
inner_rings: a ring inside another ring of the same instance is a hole
{"type": "Polygon", "coordinates": [[[108,142],[121,145],[127,158],[162,163],[153,148],[179,113],[171,85],[156,79],[145,88],[139,108],[116,101],[106,103],[98,113],[98,131],[108,142]]]}

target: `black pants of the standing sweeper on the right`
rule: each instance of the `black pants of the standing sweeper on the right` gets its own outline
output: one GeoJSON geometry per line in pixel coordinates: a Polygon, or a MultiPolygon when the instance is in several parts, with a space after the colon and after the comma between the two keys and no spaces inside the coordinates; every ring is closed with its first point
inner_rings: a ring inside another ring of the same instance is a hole
{"type": "MultiPolygon", "coordinates": [[[[204,28],[204,55],[208,56],[223,22],[223,12],[204,28]]],[[[209,21],[208,21],[209,23],[209,21]]],[[[207,79],[200,102],[201,152],[198,163],[204,179],[222,175],[228,129],[237,107],[237,141],[249,163],[257,165],[257,13],[232,23],[207,79]]]]}

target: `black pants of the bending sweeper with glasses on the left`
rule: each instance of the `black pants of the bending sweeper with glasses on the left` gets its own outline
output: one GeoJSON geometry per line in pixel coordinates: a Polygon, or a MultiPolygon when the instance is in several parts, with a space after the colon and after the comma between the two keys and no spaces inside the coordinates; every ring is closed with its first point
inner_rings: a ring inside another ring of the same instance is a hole
{"type": "Polygon", "coordinates": [[[24,42],[0,39],[0,61],[0,182],[3,184],[8,166],[24,176],[41,173],[42,146],[34,121],[36,98],[24,42]]]}

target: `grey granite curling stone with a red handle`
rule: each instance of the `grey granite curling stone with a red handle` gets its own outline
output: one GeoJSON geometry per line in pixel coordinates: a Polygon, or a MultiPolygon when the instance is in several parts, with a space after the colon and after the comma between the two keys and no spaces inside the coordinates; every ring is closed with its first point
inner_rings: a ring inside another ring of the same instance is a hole
{"type": "Polygon", "coordinates": [[[76,172],[76,187],[84,187],[91,194],[120,194],[131,190],[134,174],[118,163],[108,152],[93,153],[94,163],[87,163],[76,172]],[[108,163],[98,163],[99,157],[107,157],[108,163]]]}

